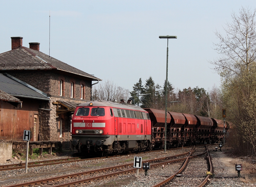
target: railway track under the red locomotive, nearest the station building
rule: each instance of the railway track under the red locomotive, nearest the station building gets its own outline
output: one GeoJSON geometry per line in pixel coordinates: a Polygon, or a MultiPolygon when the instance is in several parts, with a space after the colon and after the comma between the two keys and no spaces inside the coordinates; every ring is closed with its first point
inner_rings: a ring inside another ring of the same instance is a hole
{"type": "MultiPolygon", "coordinates": [[[[172,148],[172,149],[168,149],[168,150],[175,150],[175,149],[182,149],[182,147],[172,148]]],[[[160,150],[146,151],[145,153],[147,153],[147,152],[157,152],[157,151],[160,151],[160,150]]],[[[130,155],[132,155],[132,154],[137,154],[137,153],[130,153],[130,155]]],[[[54,159],[54,160],[28,162],[28,168],[48,166],[48,165],[54,165],[54,164],[64,164],[64,163],[71,163],[71,162],[82,162],[82,161],[86,161],[86,160],[98,160],[98,159],[112,158],[112,157],[119,157],[119,156],[123,156],[123,155],[86,158],[86,159],[83,159],[82,157],[73,157],[73,158],[66,158],[66,159],[54,159]]],[[[23,168],[25,168],[25,162],[19,163],[19,164],[0,165],[0,171],[23,169],[23,168]]]]}

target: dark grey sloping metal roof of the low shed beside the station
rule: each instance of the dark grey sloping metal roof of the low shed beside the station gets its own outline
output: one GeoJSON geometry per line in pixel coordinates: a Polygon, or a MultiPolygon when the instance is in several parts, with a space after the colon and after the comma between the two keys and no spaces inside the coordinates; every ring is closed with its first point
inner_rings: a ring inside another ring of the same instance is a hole
{"type": "Polygon", "coordinates": [[[14,80],[0,73],[0,90],[3,90],[4,92],[15,97],[50,100],[50,98],[47,97],[45,93],[37,90],[33,86],[30,86],[26,83],[22,83],[23,82],[18,79],[14,80]]]}

